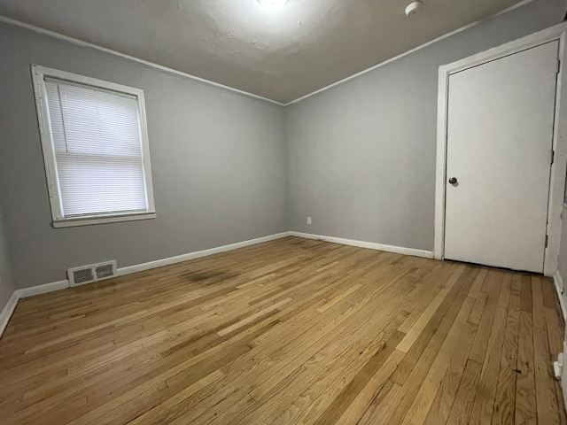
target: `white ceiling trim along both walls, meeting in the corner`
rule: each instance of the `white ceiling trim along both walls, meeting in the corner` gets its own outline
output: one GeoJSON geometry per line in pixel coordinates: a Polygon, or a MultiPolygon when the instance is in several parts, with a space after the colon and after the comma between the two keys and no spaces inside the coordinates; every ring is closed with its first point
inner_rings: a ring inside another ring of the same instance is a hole
{"type": "Polygon", "coordinates": [[[86,47],[88,49],[102,51],[102,52],[109,54],[109,55],[113,55],[113,56],[116,56],[116,57],[119,57],[119,58],[123,58],[123,59],[126,59],[126,60],[131,61],[131,62],[135,62],[135,63],[143,65],[143,66],[147,66],[147,67],[150,67],[150,68],[157,69],[159,71],[163,71],[165,73],[170,73],[170,74],[173,74],[173,75],[176,75],[176,76],[179,76],[179,77],[187,78],[187,79],[192,80],[192,81],[198,81],[198,82],[201,82],[201,83],[204,83],[204,84],[208,84],[208,85],[217,87],[219,89],[224,89],[224,90],[227,90],[229,92],[236,93],[238,95],[250,97],[252,99],[262,100],[262,101],[268,102],[270,104],[277,104],[277,105],[280,105],[280,106],[288,106],[288,105],[291,105],[291,104],[297,104],[297,103],[301,102],[302,100],[307,99],[308,97],[315,96],[319,93],[322,93],[323,91],[332,89],[332,88],[334,88],[334,87],[336,87],[340,84],[344,84],[347,81],[350,81],[350,80],[353,80],[354,78],[360,77],[361,75],[363,75],[365,73],[369,73],[371,71],[374,71],[375,69],[380,68],[381,66],[386,66],[388,64],[391,64],[392,62],[394,62],[394,61],[396,61],[400,58],[404,58],[408,55],[411,55],[412,53],[415,53],[417,50],[425,49],[426,47],[431,46],[431,44],[435,44],[436,42],[440,42],[442,40],[445,40],[448,37],[462,33],[463,31],[466,31],[466,30],[470,29],[471,27],[476,27],[479,24],[485,23],[486,21],[494,19],[494,18],[501,16],[505,13],[512,12],[512,11],[516,10],[517,8],[522,7],[526,4],[530,4],[534,1],[535,0],[524,0],[520,3],[518,3],[518,4],[514,4],[513,6],[509,7],[508,9],[505,9],[501,12],[495,13],[494,15],[492,15],[489,18],[478,20],[478,21],[473,22],[473,23],[471,23],[471,24],[469,24],[465,27],[461,27],[461,28],[458,28],[458,29],[450,32],[450,33],[447,33],[446,35],[441,35],[440,37],[438,37],[434,40],[431,40],[431,42],[425,42],[425,43],[421,44],[420,46],[417,46],[416,48],[414,48],[412,50],[408,50],[405,53],[402,53],[402,54],[400,54],[400,55],[398,55],[394,58],[390,58],[388,60],[385,60],[384,62],[381,62],[381,63],[379,63],[375,66],[371,66],[371,67],[361,71],[360,73],[354,73],[353,75],[346,77],[343,80],[334,82],[334,83],[332,83],[332,84],[330,84],[326,87],[323,87],[322,89],[315,90],[312,93],[309,93],[305,96],[299,97],[299,98],[292,100],[291,102],[288,102],[286,104],[283,104],[281,102],[277,102],[276,100],[268,99],[267,97],[261,97],[261,96],[258,96],[258,95],[254,95],[253,93],[249,93],[249,92],[244,91],[244,90],[234,89],[232,87],[225,86],[224,84],[220,84],[218,82],[209,81],[209,80],[206,80],[204,78],[200,78],[200,77],[197,77],[195,75],[191,75],[190,73],[183,73],[181,71],[177,71],[177,70],[175,70],[173,68],[169,68],[167,66],[161,66],[161,65],[155,64],[153,62],[150,62],[150,61],[147,61],[147,60],[144,60],[144,59],[129,56],[129,55],[126,55],[124,53],[120,53],[119,51],[106,49],[105,47],[98,46],[97,44],[93,44],[93,43],[90,43],[90,42],[83,42],[82,40],[78,40],[76,38],[69,37],[67,35],[62,35],[62,34],[56,33],[55,31],[50,31],[48,29],[44,29],[44,28],[41,28],[41,27],[35,27],[33,25],[26,24],[26,23],[21,22],[21,21],[16,20],[16,19],[10,19],[10,18],[6,18],[4,16],[0,16],[0,22],[4,22],[5,24],[16,26],[16,27],[23,27],[23,28],[26,28],[27,30],[33,31],[35,33],[39,33],[39,34],[42,34],[42,35],[48,35],[48,36],[56,38],[58,40],[62,40],[62,41],[65,41],[65,42],[71,42],[73,44],[76,44],[76,45],[79,45],[79,46],[82,46],[82,47],[86,47]]]}

